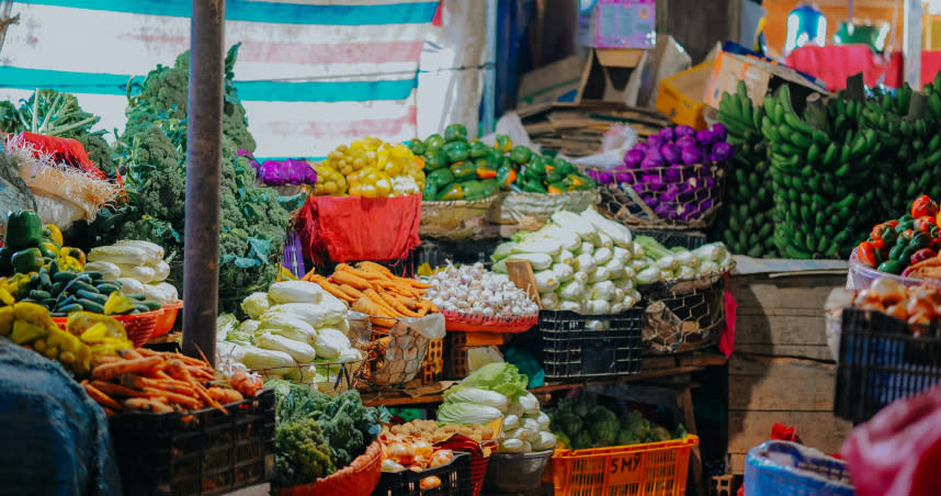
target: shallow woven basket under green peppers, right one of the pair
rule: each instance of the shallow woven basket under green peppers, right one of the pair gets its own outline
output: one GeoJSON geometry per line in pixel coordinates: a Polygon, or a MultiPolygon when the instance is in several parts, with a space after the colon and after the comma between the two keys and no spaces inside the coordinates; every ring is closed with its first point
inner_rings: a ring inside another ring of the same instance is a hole
{"type": "Polygon", "coordinates": [[[545,223],[559,211],[581,213],[601,201],[597,190],[565,193],[501,193],[490,205],[490,222],[515,225],[526,221],[545,223]]]}

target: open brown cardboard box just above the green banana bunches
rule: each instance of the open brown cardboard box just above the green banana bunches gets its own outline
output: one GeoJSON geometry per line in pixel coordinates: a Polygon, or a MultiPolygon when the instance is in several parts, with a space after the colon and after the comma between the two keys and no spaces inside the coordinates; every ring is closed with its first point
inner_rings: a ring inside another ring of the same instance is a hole
{"type": "Polygon", "coordinates": [[[718,109],[723,93],[726,91],[735,93],[739,80],[745,80],[748,98],[758,105],[762,104],[764,95],[769,91],[773,91],[781,84],[789,84],[791,87],[791,100],[794,102],[794,110],[797,112],[803,111],[801,103],[810,93],[829,94],[824,88],[812,83],[807,78],[787,66],[752,56],[722,52],[718,54],[710,76],[705,103],[718,109]]]}

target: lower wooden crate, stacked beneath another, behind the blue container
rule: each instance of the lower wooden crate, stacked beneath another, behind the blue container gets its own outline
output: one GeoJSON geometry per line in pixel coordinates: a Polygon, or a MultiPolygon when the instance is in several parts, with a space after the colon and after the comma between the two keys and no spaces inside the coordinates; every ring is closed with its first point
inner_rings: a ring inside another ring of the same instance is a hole
{"type": "Polygon", "coordinates": [[[767,441],[771,426],[794,426],[809,447],[839,451],[852,425],[832,414],[836,365],[736,350],[728,362],[728,453],[744,473],[748,450],[767,441]]]}

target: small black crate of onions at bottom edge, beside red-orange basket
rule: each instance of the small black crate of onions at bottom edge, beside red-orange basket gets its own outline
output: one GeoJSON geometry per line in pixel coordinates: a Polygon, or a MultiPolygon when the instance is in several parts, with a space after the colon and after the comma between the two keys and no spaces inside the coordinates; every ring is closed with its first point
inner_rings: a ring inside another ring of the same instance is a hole
{"type": "Polygon", "coordinates": [[[470,453],[454,452],[451,463],[434,469],[412,472],[406,470],[397,473],[386,473],[379,477],[379,483],[373,489],[373,496],[472,496],[474,485],[470,481],[470,453]],[[441,480],[441,485],[422,489],[421,480],[434,475],[441,480]]]}

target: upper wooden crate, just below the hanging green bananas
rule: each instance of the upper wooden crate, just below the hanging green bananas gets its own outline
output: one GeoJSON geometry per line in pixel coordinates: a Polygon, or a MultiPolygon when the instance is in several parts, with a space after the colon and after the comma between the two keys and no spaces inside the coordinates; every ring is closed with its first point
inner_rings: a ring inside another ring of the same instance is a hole
{"type": "Polygon", "coordinates": [[[824,304],[846,274],[748,274],[733,278],[738,304],[735,351],[831,361],[824,304]]]}

